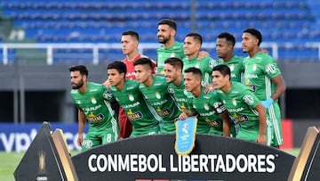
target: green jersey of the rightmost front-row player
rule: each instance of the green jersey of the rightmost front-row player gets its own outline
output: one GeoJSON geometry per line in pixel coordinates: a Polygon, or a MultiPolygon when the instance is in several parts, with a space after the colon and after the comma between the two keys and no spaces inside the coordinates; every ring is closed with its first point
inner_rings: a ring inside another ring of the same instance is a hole
{"type": "Polygon", "coordinates": [[[256,141],[259,135],[260,123],[258,111],[254,108],[260,103],[247,86],[239,82],[232,82],[228,93],[217,90],[220,101],[226,106],[229,115],[240,123],[240,129],[236,137],[256,141]]]}

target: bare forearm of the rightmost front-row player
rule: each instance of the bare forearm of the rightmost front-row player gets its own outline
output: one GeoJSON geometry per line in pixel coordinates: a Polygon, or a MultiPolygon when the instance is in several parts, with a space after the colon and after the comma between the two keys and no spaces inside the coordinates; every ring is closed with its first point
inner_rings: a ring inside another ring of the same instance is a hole
{"type": "Polygon", "coordinates": [[[266,120],[267,114],[266,109],[261,103],[258,103],[257,106],[254,108],[258,111],[259,115],[259,136],[257,137],[257,142],[260,144],[267,144],[267,136],[266,136],[266,120]]]}

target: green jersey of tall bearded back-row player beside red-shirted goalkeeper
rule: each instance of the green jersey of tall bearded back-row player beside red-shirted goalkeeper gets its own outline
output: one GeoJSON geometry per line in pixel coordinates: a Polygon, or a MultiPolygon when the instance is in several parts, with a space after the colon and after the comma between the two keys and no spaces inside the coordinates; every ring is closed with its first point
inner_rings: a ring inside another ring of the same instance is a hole
{"type": "Polygon", "coordinates": [[[156,49],[156,72],[164,74],[164,61],[170,57],[177,57],[181,60],[184,55],[183,44],[179,42],[174,42],[172,46],[165,48],[164,45],[160,45],[156,49]]]}

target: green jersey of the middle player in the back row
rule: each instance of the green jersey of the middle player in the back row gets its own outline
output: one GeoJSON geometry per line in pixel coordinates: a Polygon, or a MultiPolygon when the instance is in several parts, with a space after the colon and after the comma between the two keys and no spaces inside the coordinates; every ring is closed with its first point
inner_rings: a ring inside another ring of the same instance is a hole
{"type": "Polygon", "coordinates": [[[196,67],[199,70],[201,70],[203,77],[202,77],[202,83],[203,85],[212,82],[212,69],[219,63],[216,60],[213,60],[210,56],[205,56],[201,60],[197,60],[196,56],[193,59],[188,59],[188,57],[185,57],[183,61],[183,72],[184,70],[187,70],[190,67],[196,67]]]}

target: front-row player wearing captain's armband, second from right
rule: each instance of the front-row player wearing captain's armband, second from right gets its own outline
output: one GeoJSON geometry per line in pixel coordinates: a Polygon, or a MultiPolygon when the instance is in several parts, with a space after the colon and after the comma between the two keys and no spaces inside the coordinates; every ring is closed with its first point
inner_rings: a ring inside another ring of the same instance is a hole
{"type": "MultiPolygon", "coordinates": [[[[198,112],[198,121],[206,122],[211,128],[209,134],[216,136],[235,136],[235,129],[230,128],[231,119],[224,105],[219,101],[215,91],[205,94],[201,85],[201,70],[189,68],[185,70],[184,81],[188,95],[188,103],[198,112]],[[232,130],[232,131],[230,131],[232,130]]],[[[181,118],[187,119],[187,117],[181,118]]]]}

